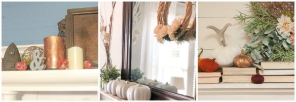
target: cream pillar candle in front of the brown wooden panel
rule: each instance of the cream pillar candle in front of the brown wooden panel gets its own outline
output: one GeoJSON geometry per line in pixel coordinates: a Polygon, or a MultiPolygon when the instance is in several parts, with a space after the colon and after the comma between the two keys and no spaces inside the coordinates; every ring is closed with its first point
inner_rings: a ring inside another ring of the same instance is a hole
{"type": "Polygon", "coordinates": [[[67,50],[68,69],[83,69],[82,48],[74,46],[67,50]]]}

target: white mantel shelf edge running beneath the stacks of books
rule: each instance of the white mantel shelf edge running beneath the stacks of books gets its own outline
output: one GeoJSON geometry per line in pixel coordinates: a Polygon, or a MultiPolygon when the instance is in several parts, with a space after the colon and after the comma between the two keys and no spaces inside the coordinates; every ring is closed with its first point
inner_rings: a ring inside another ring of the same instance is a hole
{"type": "Polygon", "coordinates": [[[259,88],[294,88],[294,83],[219,83],[198,84],[198,89],[259,89],[259,88]]]}

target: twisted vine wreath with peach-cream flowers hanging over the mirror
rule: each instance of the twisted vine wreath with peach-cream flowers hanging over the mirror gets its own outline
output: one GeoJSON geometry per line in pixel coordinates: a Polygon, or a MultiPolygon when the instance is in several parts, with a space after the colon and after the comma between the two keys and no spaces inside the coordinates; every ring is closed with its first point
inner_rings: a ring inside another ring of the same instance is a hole
{"type": "Polygon", "coordinates": [[[171,2],[159,2],[157,10],[157,25],[153,30],[157,42],[176,41],[178,44],[195,40],[196,38],[196,17],[190,20],[192,14],[192,3],[185,2],[185,16],[178,16],[170,25],[167,23],[167,16],[171,2]]]}

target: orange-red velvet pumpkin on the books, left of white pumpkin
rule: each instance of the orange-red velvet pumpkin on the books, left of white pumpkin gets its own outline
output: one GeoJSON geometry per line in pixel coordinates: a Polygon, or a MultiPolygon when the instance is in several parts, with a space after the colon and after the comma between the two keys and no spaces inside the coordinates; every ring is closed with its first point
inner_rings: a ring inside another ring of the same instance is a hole
{"type": "Polygon", "coordinates": [[[217,71],[219,65],[215,62],[215,59],[202,59],[198,63],[198,68],[205,72],[214,72],[217,71]]]}

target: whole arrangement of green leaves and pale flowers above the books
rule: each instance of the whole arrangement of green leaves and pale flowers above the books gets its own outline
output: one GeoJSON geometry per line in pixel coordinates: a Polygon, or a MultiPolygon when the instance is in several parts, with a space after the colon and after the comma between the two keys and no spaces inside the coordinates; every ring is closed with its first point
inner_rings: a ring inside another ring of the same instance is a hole
{"type": "Polygon", "coordinates": [[[280,18],[259,4],[247,4],[252,15],[239,12],[235,19],[246,24],[244,31],[251,37],[245,44],[245,54],[251,56],[254,63],[260,61],[294,61],[294,17],[289,11],[283,11],[280,18]]]}

